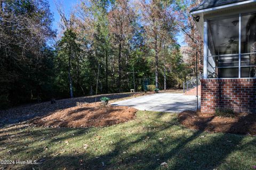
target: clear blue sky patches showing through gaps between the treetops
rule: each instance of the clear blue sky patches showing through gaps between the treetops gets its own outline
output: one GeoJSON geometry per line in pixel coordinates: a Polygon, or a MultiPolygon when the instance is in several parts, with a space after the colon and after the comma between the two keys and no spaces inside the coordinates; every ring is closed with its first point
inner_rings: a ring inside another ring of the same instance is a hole
{"type": "MultiPolygon", "coordinates": [[[[58,2],[58,0],[57,0],[58,2]]],[[[78,2],[78,0],[62,0],[61,3],[63,4],[63,8],[65,10],[65,13],[66,14],[69,14],[72,7],[78,2]]],[[[57,8],[54,4],[54,0],[49,0],[49,5],[50,5],[50,10],[53,14],[53,18],[54,18],[54,21],[53,21],[53,29],[59,29],[59,22],[60,22],[60,16],[57,12],[57,8]]],[[[177,36],[177,39],[178,39],[178,43],[181,45],[181,46],[184,46],[185,44],[182,43],[183,40],[184,40],[184,37],[183,37],[183,34],[180,32],[179,35],[177,36]]]]}

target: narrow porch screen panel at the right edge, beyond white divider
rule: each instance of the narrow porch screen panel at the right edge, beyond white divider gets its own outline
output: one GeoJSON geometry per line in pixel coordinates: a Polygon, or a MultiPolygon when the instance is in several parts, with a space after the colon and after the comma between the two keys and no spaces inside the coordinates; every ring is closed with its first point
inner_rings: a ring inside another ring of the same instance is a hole
{"type": "Polygon", "coordinates": [[[256,13],[241,16],[241,78],[256,77],[256,13]]]}

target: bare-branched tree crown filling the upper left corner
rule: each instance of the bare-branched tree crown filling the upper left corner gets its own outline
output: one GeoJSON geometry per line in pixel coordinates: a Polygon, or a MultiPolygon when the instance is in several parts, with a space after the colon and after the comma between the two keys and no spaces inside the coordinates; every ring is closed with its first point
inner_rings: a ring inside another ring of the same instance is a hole
{"type": "Polygon", "coordinates": [[[51,29],[52,14],[47,2],[24,3],[30,5],[30,10],[26,10],[28,6],[24,5],[15,11],[15,1],[0,1],[0,82],[13,82],[19,77],[19,72],[29,75],[29,71],[22,67],[32,60],[36,60],[33,64],[38,65],[42,59],[42,47],[55,35],[51,29]],[[12,69],[14,65],[19,71],[12,69]]]}

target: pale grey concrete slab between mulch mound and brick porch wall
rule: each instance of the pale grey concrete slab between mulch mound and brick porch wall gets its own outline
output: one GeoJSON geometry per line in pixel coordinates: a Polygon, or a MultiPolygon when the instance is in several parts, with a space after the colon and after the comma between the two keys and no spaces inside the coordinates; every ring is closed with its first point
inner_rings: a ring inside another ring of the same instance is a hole
{"type": "MultiPolygon", "coordinates": [[[[159,93],[147,95],[111,103],[115,106],[131,106],[140,111],[157,111],[180,113],[182,111],[196,110],[196,96],[186,96],[183,94],[159,93]]],[[[198,107],[200,97],[198,97],[198,107]]]]}

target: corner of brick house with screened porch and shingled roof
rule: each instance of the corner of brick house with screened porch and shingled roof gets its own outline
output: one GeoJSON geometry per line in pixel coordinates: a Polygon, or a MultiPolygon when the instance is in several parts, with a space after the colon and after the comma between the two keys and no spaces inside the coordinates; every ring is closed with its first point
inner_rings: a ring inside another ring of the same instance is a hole
{"type": "Polygon", "coordinates": [[[205,0],[190,14],[204,39],[201,112],[256,113],[256,0],[205,0]]]}

